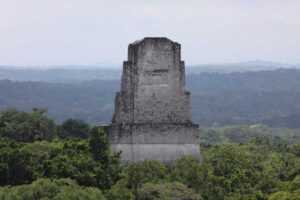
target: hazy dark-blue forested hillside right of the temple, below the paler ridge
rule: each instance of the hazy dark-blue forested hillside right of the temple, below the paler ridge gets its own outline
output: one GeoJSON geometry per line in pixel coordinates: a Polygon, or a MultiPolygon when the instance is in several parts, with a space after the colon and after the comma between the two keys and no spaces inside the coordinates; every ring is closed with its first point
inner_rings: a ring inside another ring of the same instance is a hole
{"type": "Polygon", "coordinates": [[[300,70],[190,75],[193,116],[203,125],[300,127],[300,70]]]}

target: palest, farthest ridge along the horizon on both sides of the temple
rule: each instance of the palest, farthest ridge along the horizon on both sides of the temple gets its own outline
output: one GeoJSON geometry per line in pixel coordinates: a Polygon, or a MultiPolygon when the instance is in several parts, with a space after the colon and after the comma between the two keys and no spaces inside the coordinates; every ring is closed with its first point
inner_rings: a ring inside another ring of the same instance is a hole
{"type": "MultiPolygon", "coordinates": [[[[232,73],[247,71],[300,68],[268,61],[249,61],[229,64],[202,64],[187,66],[187,74],[232,73]]],[[[0,66],[0,80],[41,81],[51,83],[73,83],[90,80],[119,80],[122,68],[113,65],[62,65],[62,66],[0,66]]]]}

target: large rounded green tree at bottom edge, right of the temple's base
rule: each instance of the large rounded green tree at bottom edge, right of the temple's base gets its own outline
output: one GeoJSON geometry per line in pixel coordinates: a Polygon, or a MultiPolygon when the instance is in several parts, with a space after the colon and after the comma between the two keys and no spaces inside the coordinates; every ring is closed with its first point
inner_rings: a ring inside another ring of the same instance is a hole
{"type": "Polygon", "coordinates": [[[199,178],[203,184],[196,189],[208,200],[262,198],[261,186],[269,183],[261,171],[262,161],[261,154],[252,153],[247,146],[213,147],[204,154],[199,178]]]}

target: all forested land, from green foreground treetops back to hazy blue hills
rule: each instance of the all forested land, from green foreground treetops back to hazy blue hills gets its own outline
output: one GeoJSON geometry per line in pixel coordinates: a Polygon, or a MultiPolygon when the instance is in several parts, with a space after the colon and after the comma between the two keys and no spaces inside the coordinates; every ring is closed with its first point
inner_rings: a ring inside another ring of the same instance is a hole
{"type": "Polygon", "coordinates": [[[1,200],[300,199],[300,70],[189,73],[202,160],[169,164],[121,162],[97,126],[118,72],[74,73],[0,80],[1,200]]]}

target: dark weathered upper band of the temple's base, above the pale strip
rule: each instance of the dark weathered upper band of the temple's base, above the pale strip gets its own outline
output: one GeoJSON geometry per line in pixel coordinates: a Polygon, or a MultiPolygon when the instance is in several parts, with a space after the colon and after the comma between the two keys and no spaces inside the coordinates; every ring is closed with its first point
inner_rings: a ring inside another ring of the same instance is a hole
{"type": "Polygon", "coordinates": [[[112,124],[112,144],[199,144],[198,126],[190,123],[112,124]]]}

